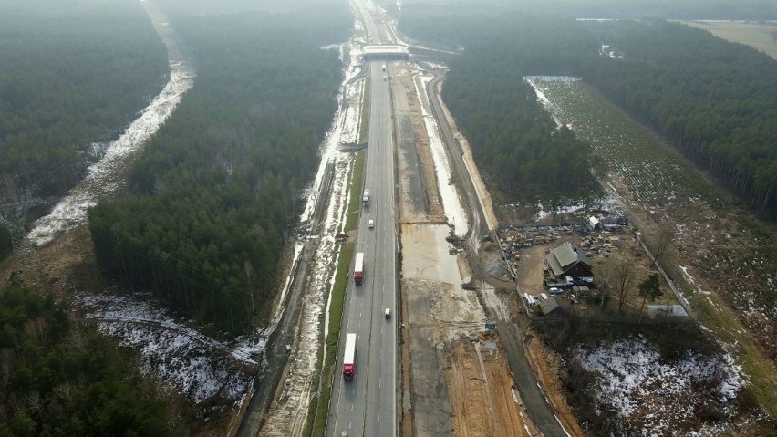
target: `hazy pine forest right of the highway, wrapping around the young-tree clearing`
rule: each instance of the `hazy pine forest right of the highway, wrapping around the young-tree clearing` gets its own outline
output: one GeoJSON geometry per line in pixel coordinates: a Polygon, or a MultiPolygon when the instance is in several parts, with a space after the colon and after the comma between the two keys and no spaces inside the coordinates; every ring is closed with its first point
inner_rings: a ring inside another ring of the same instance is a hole
{"type": "MultiPolygon", "coordinates": [[[[536,126],[547,125],[541,109],[520,114],[520,108],[536,107],[521,78],[568,74],[584,78],[658,132],[753,211],[777,213],[777,61],[772,58],[659,19],[578,22],[504,11],[464,16],[428,5],[418,6],[415,14],[407,7],[403,31],[465,47],[451,62],[443,97],[471,138],[475,158],[500,189],[527,186],[517,198],[543,187],[568,190],[554,188],[545,171],[554,159],[556,166],[564,157],[580,162],[581,155],[569,150],[585,149],[562,146],[544,161],[525,147],[521,138],[527,132],[519,128],[524,120],[552,138],[553,130],[536,126]],[[622,56],[603,56],[602,45],[622,56]]],[[[536,137],[531,141],[542,144],[536,137]]],[[[582,181],[578,171],[565,169],[570,183],[582,181]]]]}

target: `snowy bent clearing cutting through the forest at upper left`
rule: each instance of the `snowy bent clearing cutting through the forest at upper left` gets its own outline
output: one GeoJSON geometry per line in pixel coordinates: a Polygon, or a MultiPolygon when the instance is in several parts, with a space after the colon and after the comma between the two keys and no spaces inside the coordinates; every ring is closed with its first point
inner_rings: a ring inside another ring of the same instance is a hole
{"type": "Polygon", "coordinates": [[[60,201],[48,215],[36,221],[35,227],[27,237],[36,245],[45,245],[75,225],[84,223],[87,209],[97,204],[99,199],[119,192],[126,183],[124,169],[130,159],[135,157],[141,146],[160,129],[164,120],[170,117],[178,106],[183,94],[192,88],[194,68],[181,55],[181,49],[167,26],[167,19],[148,3],[143,4],[151,22],[164,42],[168,51],[170,80],[143,109],[140,118],[134,120],[118,140],[111,142],[105,156],[91,165],[88,174],[60,201]]]}

